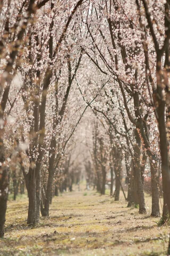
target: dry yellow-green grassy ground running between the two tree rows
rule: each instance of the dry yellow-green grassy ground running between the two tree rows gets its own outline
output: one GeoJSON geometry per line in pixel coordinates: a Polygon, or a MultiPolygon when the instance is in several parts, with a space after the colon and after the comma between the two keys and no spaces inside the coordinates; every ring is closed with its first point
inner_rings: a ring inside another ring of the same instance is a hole
{"type": "Polygon", "coordinates": [[[122,195],[114,202],[109,194],[74,189],[54,197],[50,217],[41,217],[35,227],[26,224],[27,196],[9,201],[0,255],[166,254],[169,227],[150,217],[150,195],[146,195],[148,213],[141,215],[138,209],[126,207],[122,195]]]}

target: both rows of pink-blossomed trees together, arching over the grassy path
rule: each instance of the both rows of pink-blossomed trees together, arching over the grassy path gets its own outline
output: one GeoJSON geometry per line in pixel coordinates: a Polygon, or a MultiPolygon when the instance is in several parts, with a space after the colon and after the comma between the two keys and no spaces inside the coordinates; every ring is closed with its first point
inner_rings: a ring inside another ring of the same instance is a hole
{"type": "Polygon", "coordinates": [[[40,208],[43,216],[49,215],[54,176],[60,176],[66,146],[87,108],[95,123],[89,159],[97,189],[104,194],[110,165],[120,190],[124,158],[128,204],[138,202],[139,213],[146,213],[149,163],[151,214],[160,216],[161,170],[162,217],[167,221],[169,0],[6,0],[0,6],[0,236],[11,165],[19,163],[23,172],[27,222],[38,223],[40,208]]]}

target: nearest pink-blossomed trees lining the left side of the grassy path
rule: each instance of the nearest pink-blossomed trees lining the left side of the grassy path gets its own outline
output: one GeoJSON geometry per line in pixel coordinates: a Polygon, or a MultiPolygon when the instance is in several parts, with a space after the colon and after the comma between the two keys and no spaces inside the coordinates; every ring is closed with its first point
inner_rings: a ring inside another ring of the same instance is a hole
{"type": "Polygon", "coordinates": [[[54,170],[82,115],[79,104],[75,102],[70,103],[70,109],[66,108],[82,56],[81,51],[78,55],[70,51],[73,48],[69,42],[71,34],[66,39],[66,32],[81,4],[82,1],[76,5],[72,3],[67,9],[65,2],[63,5],[54,1],[2,3],[1,236],[4,233],[12,155],[17,155],[15,159],[22,168],[29,197],[27,223],[31,224],[39,222],[41,167],[48,163],[42,214],[49,214],[54,170]],[[59,13],[65,15],[60,22],[59,13]],[[78,120],[75,114],[79,115],[78,120]],[[71,127],[67,125],[69,120],[71,127]]]}

